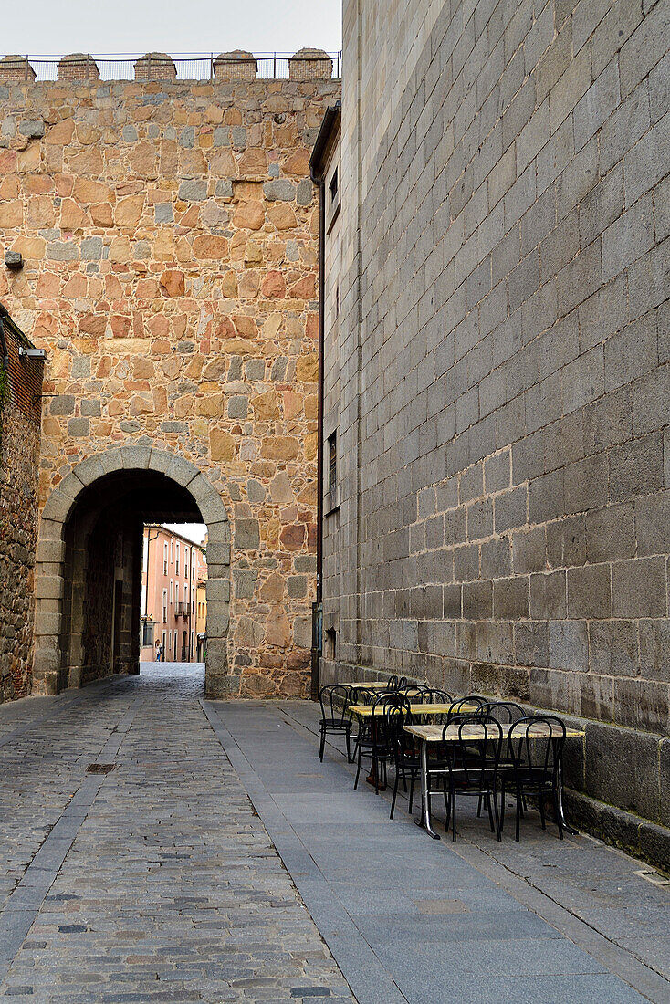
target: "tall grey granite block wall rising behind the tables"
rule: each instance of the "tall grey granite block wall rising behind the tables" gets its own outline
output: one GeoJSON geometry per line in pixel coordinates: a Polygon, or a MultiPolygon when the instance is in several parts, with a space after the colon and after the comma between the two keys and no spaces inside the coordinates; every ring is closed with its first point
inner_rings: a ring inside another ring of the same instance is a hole
{"type": "Polygon", "coordinates": [[[637,0],[345,4],[323,586],[326,678],[588,719],[575,786],[665,825],[668,38],[637,0]],[[635,783],[595,723],[651,744],[635,783]]]}

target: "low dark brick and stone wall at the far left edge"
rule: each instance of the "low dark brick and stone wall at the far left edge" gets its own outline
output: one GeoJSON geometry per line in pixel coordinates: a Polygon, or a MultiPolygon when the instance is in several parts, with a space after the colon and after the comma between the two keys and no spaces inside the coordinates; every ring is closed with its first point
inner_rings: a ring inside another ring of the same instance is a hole
{"type": "Polygon", "coordinates": [[[31,689],[42,363],[6,324],[9,382],[0,421],[0,704],[31,689]]]}

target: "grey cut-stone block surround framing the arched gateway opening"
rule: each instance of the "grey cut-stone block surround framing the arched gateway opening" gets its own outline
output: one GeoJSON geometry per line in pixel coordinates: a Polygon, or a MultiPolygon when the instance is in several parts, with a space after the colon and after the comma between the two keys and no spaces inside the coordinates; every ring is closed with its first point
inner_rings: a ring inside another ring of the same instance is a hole
{"type": "MultiPolygon", "coordinates": [[[[83,543],[72,549],[70,542],[66,548],[68,522],[98,482],[104,484],[105,479],[115,476],[122,483],[125,473],[137,479],[142,472],[162,476],[166,483],[187,493],[207,525],[206,696],[223,696],[236,679],[228,676],[230,524],[221,496],[202,471],[183,457],[151,446],[123,446],[76,464],[53,489],[42,511],[36,563],[33,693],[57,694],[79,682],[75,670],[80,658],[83,599],[76,586],[82,580],[86,555],[83,543]]],[[[84,516],[79,525],[81,534],[87,532],[90,523],[90,517],[84,516]]]]}

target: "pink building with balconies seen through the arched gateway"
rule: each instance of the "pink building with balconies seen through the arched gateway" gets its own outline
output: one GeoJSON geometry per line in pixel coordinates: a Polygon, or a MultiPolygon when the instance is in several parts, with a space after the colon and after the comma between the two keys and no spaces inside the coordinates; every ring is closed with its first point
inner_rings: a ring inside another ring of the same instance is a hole
{"type": "Polygon", "coordinates": [[[141,654],[143,662],[156,659],[156,643],[163,645],[163,661],[197,661],[198,583],[207,578],[202,547],[160,524],[145,526],[142,564],[141,654]]]}

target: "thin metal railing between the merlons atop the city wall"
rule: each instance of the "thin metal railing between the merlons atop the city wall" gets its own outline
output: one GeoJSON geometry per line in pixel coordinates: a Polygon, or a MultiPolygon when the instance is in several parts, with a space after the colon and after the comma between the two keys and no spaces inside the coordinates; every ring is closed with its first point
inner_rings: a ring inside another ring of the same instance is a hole
{"type": "MultiPolygon", "coordinates": [[[[18,56],[4,57],[5,60],[12,58],[16,60],[16,71],[12,72],[12,77],[16,80],[21,77],[26,80],[48,81],[62,78],[58,73],[58,66],[63,59],[62,56],[21,53],[18,56]],[[19,64],[20,60],[20,64],[19,64]],[[33,72],[31,72],[31,69],[33,72]],[[34,73],[34,76],[33,76],[34,73]]],[[[70,57],[71,58],[71,57],[70,57]]],[[[177,53],[169,56],[177,71],[177,80],[213,80],[216,74],[216,63],[220,59],[217,53],[177,53]]],[[[297,59],[305,63],[322,62],[324,58],[332,61],[331,76],[339,79],[342,71],[342,52],[327,52],[322,55],[302,55],[289,52],[254,52],[248,54],[246,61],[256,62],[257,79],[265,80],[286,80],[290,75],[291,59],[297,59]]],[[[146,60],[144,53],[124,53],[82,56],[78,61],[73,60],[70,66],[77,66],[76,76],[79,79],[92,80],[135,80],[137,78],[136,63],[139,60],[146,60]]],[[[228,62],[228,59],[224,60],[228,62]]],[[[231,62],[245,60],[230,60],[231,62]]],[[[157,62],[150,60],[152,65],[157,62]]],[[[3,70],[3,60],[0,57],[0,73],[3,70]]],[[[70,74],[67,74],[70,76],[70,74]]],[[[73,75],[73,74],[72,74],[73,75]]]]}

